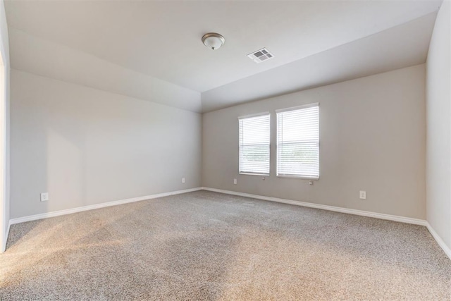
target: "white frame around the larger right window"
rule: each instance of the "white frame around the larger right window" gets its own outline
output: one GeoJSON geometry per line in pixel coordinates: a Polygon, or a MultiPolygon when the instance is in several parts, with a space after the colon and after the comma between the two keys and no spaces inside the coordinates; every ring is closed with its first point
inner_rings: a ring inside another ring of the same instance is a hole
{"type": "Polygon", "coordinates": [[[296,178],[299,180],[319,180],[319,178],[321,177],[321,159],[320,159],[320,149],[321,149],[321,136],[320,136],[320,122],[319,122],[319,116],[320,116],[320,106],[319,106],[319,102],[314,102],[311,104],[303,104],[301,106],[292,106],[289,108],[284,108],[284,109],[278,109],[276,110],[276,177],[277,178],[296,178]],[[279,133],[279,129],[278,129],[278,114],[283,113],[283,112],[288,112],[288,111],[297,111],[297,110],[302,110],[302,109],[309,109],[312,107],[318,107],[318,176],[305,176],[305,175],[290,175],[290,174],[279,174],[279,137],[278,137],[278,133],[279,133]]]}

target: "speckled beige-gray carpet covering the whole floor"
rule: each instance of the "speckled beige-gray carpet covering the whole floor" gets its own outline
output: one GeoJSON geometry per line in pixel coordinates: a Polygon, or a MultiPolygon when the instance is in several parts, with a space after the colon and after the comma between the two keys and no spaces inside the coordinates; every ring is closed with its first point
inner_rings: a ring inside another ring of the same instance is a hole
{"type": "Polygon", "coordinates": [[[11,227],[1,300],[450,300],[426,228],[192,192],[11,227]]]}

